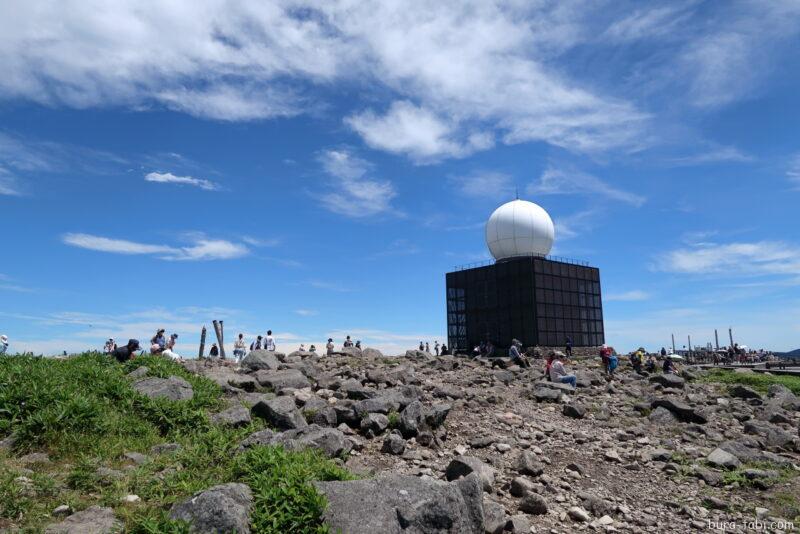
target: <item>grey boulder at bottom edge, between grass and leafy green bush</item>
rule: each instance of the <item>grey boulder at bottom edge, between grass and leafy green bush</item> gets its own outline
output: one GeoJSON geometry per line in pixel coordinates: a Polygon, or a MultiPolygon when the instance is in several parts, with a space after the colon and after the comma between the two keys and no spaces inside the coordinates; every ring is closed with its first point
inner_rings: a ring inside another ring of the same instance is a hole
{"type": "Polygon", "coordinates": [[[189,523],[191,532],[249,534],[252,504],[253,494],[247,485],[222,484],[176,503],[169,517],[189,523]]]}

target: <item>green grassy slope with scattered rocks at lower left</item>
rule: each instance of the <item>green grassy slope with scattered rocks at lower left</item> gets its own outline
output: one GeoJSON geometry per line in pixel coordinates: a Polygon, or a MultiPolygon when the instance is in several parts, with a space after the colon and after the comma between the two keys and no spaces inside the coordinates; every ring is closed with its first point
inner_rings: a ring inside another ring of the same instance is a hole
{"type": "Polygon", "coordinates": [[[66,360],[0,359],[0,437],[16,437],[13,454],[0,456],[0,528],[37,531],[54,521],[50,513],[60,504],[75,510],[100,504],[114,507],[131,532],[185,532],[186,525],[167,518],[172,503],[212,485],[242,481],[254,493],[255,532],[324,531],[325,503],[308,482],[350,475],[314,452],[259,447],[237,455],[239,441],[263,423],[235,430],[211,425],[207,414],[222,406],[213,382],[159,357],[125,365],[91,353],[66,360]],[[171,402],[138,395],[125,375],[140,365],[149,376],[186,378],[194,398],[171,402]],[[182,449],[152,456],[142,466],[122,458],[131,451],[149,455],[151,446],[165,442],[182,449]],[[34,474],[25,475],[31,482],[20,483],[16,457],[31,451],[47,452],[53,461],[34,466],[34,474]],[[122,476],[98,476],[98,467],[122,476]],[[128,494],[141,502],[122,503],[128,494]]]}

